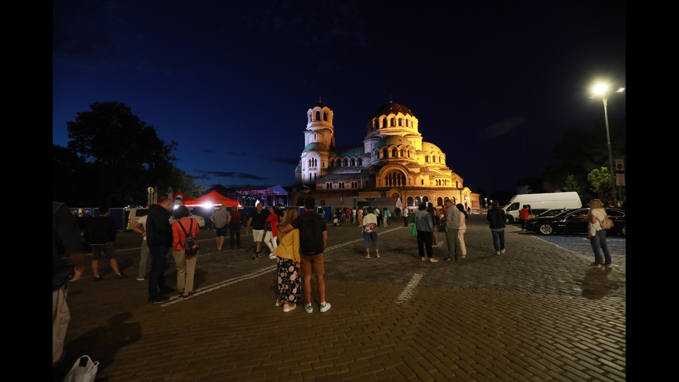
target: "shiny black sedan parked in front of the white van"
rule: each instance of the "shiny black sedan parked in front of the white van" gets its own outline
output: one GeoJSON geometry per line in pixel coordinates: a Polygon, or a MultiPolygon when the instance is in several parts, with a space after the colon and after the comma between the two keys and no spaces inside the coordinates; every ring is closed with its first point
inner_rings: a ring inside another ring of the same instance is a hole
{"type": "MultiPolygon", "coordinates": [[[[608,229],[609,234],[626,236],[625,211],[617,208],[605,208],[608,218],[613,221],[613,227],[608,229]]],[[[563,211],[556,216],[536,216],[526,222],[526,229],[540,232],[543,235],[551,234],[586,234],[588,229],[588,208],[576,208],[563,211]]]]}

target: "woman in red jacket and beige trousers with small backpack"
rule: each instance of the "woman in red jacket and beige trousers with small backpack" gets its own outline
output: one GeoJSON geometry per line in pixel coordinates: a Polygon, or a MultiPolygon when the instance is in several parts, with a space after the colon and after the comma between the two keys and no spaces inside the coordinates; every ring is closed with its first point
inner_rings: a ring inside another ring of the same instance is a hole
{"type": "Polygon", "coordinates": [[[184,251],[184,241],[186,241],[186,234],[198,236],[198,220],[189,217],[191,213],[185,205],[177,206],[173,211],[175,223],[172,223],[172,256],[175,258],[177,265],[177,291],[179,297],[186,298],[193,292],[193,276],[195,275],[195,264],[197,262],[197,254],[193,256],[186,256],[184,251]]]}

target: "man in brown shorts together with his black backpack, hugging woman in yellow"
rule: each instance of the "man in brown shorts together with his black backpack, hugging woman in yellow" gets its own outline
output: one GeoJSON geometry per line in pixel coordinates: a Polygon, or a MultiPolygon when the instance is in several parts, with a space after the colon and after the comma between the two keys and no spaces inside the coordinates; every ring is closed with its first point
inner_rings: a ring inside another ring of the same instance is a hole
{"type": "Polygon", "coordinates": [[[302,275],[304,275],[302,291],[306,299],[306,304],[304,305],[306,313],[313,313],[314,311],[311,305],[311,275],[316,276],[316,288],[321,300],[319,310],[321,313],[324,313],[330,309],[330,303],[326,302],[326,282],[323,279],[325,273],[323,250],[328,245],[328,228],[326,227],[326,222],[314,212],[315,205],[316,200],[314,198],[306,198],[304,200],[304,210],[306,212],[292,220],[290,224],[279,226],[279,231],[283,234],[287,234],[292,229],[299,229],[300,269],[302,275]],[[319,251],[319,253],[311,253],[315,251],[319,251]]]}

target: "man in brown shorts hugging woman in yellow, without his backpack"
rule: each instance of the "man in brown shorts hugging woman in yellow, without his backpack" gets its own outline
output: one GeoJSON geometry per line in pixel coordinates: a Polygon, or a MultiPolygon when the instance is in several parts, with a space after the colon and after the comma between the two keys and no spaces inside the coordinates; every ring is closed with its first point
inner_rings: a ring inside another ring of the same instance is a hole
{"type": "MultiPolygon", "coordinates": [[[[326,248],[328,245],[328,227],[326,226],[325,220],[314,211],[315,205],[316,200],[314,200],[314,198],[306,198],[306,200],[304,200],[304,209],[306,212],[303,215],[298,216],[295,220],[292,220],[290,224],[279,225],[279,232],[287,234],[293,229],[299,229],[299,239],[303,240],[304,234],[301,231],[304,229],[304,223],[308,220],[316,220],[320,225],[323,235],[323,246],[326,248]]],[[[330,309],[330,303],[326,302],[326,281],[323,279],[325,273],[323,267],[323,254],[319,253],[308,256],[302,252],[301,248],[302,245],[300,243],[299,257],[301,259],[301,267],[299,273],[304,277],[304,286],[302,287],[304,298],[306,299],[304,310],[306,313],[313,313],[314,311],[313,306],[311,305],[311,275],[314,275],[316,276],[316,289],[318,290],[319,299],[321,300],[319,310],[321,313],[324,313],[330,309]]]]}

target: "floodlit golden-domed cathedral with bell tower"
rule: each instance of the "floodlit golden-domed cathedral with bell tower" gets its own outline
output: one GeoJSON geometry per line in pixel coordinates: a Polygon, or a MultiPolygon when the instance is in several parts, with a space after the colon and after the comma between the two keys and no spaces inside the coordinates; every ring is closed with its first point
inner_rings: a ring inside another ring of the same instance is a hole
{"type": "Polygon", "coordinates": [[[333,110],[319,101],[307,110],[304,150],[295,181],[321,205],[356,205],[355,200],[400,198],[443,206],[450,199],[479,211],[479,195],[446,164],[446,153],[418,132],[418,120],[405,106],[389,102],[370,117],[361,146],[335,146],[333,110]]]}

